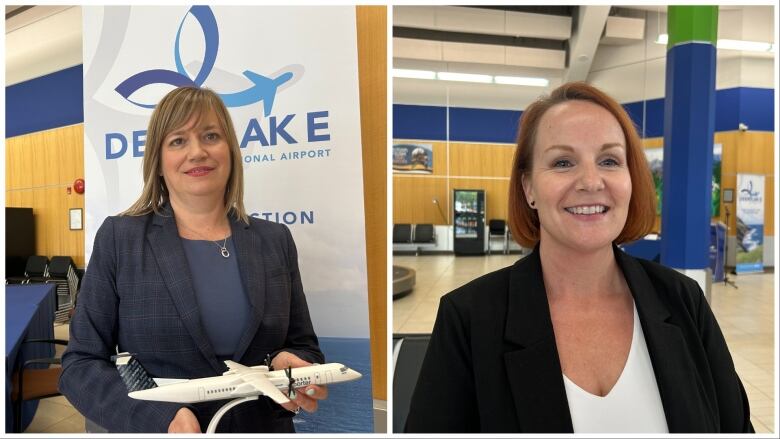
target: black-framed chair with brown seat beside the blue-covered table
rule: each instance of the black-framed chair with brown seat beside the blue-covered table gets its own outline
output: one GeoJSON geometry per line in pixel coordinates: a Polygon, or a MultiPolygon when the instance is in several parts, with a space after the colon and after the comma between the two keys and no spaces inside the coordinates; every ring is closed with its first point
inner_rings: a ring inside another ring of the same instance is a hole
{"type": "MultiPolygon", "coordinates": [[[[68,342],[58,339],[32,339],[25,340],[25,343],[49,343],[67,346],[68,342]]],[[[36,399],[51,398],[60,395],[59,381],[62,374],[62,367],[50,367],[52,365],[62,364],[59,357],[34,358],[26,360],[21,367],[13,374],[11,401],[14,404],[14,433],[22,432],[22,404],[24,401],[36,399]],[[30,366],[39,366],[31,368],[30,366]],[[46,368],[40,368],[46,366],[46,368]]]]}

